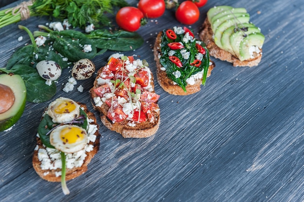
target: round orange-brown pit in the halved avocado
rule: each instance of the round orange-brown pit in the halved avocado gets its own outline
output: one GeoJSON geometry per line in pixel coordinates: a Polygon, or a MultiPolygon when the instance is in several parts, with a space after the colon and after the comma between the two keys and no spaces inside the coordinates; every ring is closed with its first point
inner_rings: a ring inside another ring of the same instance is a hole
{"type": "Polygon", "coordinates": [[[0,84],[0,95],[0,114],[2,114],[13,106],[15,95],[13,90],[4,84],[0,84]]]}

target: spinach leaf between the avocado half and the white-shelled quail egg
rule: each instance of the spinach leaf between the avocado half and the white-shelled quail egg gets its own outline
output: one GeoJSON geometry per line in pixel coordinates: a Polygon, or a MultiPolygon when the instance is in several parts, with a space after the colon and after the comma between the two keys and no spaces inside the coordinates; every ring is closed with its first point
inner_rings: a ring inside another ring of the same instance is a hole
{"type": "Polygon", "coordinates": [[[43,78],[41,78],[37,70],[27,65],[15,65],[10,69],[10,72],[19,74],[24,82],[27,89],[26,100],[30,102],[44,102],[50,100],[56,93],[56,85],[45,84],[43,78]]]}

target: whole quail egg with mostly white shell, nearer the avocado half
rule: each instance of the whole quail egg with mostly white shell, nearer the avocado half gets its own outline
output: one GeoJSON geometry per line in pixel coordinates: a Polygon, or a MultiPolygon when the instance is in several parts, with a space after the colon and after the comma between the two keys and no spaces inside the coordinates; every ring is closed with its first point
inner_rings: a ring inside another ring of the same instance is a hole
{"type": "Polygon", "coordinates": [[[37,63],[38,74],[45,80],[55,81],[61,75],[61,67],[52,60],[42,60],[37,63]]]}

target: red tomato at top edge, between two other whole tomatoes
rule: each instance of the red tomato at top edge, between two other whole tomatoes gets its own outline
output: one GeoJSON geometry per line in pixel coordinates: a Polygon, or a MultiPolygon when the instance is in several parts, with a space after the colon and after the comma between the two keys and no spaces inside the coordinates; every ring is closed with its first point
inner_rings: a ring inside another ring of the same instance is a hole
{"type": "Polygon", "coordinates": [[[164,0],[139,0],[138,9],[148,18],[161,17],[165,13],[164,0]]]}

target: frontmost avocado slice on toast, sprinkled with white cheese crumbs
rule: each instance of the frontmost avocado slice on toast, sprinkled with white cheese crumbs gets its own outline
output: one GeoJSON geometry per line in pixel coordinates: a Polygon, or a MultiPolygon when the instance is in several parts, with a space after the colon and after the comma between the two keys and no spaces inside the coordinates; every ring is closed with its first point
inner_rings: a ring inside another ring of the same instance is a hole
{"type": "Polygon", "coordinates": [[[253,56],[253,52],[259,53],[262,49],[265,36],[261,33],[253,33],[246,36],[240,43],[240,61],[248,60],[253,56]]]}

